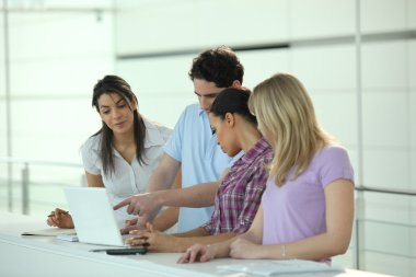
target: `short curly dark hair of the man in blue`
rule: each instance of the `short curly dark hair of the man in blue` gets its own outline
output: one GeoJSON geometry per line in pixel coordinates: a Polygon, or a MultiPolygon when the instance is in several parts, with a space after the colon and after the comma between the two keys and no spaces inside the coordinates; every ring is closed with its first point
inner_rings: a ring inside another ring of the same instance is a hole
{"type": "Polygon", "coordinates": [[[230,47],[221,46],[199,54],[188,76],[192,81],[201,79],[217,88],[229,88],[235,80],[243,83],[244,67],[230,47]]]}

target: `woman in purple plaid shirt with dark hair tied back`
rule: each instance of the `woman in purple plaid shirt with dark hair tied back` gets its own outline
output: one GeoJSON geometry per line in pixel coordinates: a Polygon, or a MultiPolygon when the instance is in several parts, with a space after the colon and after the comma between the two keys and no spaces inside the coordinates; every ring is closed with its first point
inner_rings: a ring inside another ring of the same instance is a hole
{"type": "Polygon", "coordinates": [[[250,91],[226,89],[213,101],[209,113],[218,145],[230,157],[244,151],[222,178],[210,220],[185,233],[165,234],[153,230],[130,231],[140,238],[128,239],[130,245],[147,245],[150,251],[183,252],[195,243],[210,244],[233,238],[249,230],[261,204],[267,182],[266,165],[274,153],[257,129],[250,113],[250,91]]]}

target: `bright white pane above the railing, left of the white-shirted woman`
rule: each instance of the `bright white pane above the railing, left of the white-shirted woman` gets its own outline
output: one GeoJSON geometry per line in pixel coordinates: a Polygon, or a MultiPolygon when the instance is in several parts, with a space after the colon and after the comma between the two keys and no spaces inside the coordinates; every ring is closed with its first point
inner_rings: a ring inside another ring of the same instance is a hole
{"type": "Polygon", "coordinates": [[[10,14],[13,155],[79,161],[92,88],[113,72],[111,28],[109,14],[10,14]]]}

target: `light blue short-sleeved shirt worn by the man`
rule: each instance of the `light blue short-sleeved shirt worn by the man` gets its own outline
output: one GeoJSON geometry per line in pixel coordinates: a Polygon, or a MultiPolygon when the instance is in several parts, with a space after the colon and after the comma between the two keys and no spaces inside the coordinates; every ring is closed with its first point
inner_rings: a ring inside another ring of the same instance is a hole
{"type": "MultiPolygon", "coordinates": [[[[230,168],[234,158],[228,157],[217,146],[208,115],[198,104],[188,105],[182,113],[165,152],[182,163],[182,187],[218,181],[221,173],[230,168]]],[[[208,221],[213,207],[181,208],[178,232],[186,232],[208,221]]]]}

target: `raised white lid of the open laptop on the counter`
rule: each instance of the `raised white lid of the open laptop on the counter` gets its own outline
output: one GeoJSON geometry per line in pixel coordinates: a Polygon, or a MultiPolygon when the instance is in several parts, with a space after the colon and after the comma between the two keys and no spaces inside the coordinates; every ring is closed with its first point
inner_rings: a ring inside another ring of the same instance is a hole
{"type": "Polygon", "coordinates": [[[63,189],[80,242],[126,246],[105,188],[63,189]]]}

